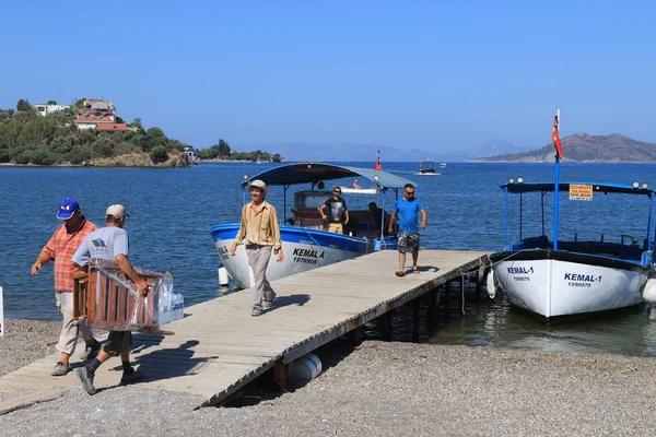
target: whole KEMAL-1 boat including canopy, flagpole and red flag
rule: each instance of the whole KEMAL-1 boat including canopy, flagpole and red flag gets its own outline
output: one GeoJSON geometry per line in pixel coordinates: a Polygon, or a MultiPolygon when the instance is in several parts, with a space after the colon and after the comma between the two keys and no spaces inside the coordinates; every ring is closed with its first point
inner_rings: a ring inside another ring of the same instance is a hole
{"type": "MultiPolygon", "coordinates": [[[[490,257],[493,276],[509,303],[544,321],[578,318],[640,304],[654,265],[652,228],[656,192],[641,182],[560,182],[563,150],[559,126],[560,110],[552,128],[555,180],[525,184],[523,178],[517,178],[501,187],[505,192],[505,247],[490,257]],[[552,201],[548,206],[552,210],[551,239],[544,228],[544,197],[548,193],[553,193],[553,198],[548,199],[552,201]],[[562,204],[566,212],[562,222],[561,193],[569,196],[569,202],[562,204]],[[511,194],[519,198],[515,210],[519,215],[519,238],[512,244],[511,194]],[[541,202],[541,216],[524,211],[524,198],[531,196],[541,202]],[[632,218],[637,216],[639,201],[643,201],[643,206],[648,205],[646,236],[640,239],[631,236],[645,229],[632,218]],[[525,238],[523,222],[539,226],[540,217],[541,228],[525,238]],[[559,231],[561,224],[563,229],[559,231]],[[559,237],[561,231],[562,238],[559,237]],[[596,232],[597,237],[590,238],[591,232],[596,232]]],[[[493,295],[494,279],[489,279],[488,284],[488,292],[493,295]]]]}

